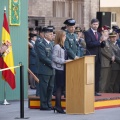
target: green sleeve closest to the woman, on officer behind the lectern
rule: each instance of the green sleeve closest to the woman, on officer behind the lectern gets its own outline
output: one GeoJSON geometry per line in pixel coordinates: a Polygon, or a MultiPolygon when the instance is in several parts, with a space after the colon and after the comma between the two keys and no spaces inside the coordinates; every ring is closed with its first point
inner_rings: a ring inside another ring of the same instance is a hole
{"type": "Polygon", "coordinates": [[[66,40],[65,40],[65,49],[67,51],[68,57],[74,59],[76,55],[74,54],[74,52],[72,51],[72,49],[70,47],[68,38],[66,38],[66,40]]]}

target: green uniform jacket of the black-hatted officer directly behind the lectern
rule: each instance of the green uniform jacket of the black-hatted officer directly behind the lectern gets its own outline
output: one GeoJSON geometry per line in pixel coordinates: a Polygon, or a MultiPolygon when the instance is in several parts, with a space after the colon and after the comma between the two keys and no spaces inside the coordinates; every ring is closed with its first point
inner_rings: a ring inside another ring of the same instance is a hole
{"type": "Polygon", "coordinates": [[[77,36],[74,33],[66,31],[65,49],[68,59],[74,59],[77,54],[77,36]]]}

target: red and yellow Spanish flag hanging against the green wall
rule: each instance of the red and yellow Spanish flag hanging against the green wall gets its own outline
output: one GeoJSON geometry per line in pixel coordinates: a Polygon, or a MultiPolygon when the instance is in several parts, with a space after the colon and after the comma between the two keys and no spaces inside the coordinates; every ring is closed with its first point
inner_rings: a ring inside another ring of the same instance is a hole
{"type": "MultiPolygon", "coordinates": [[[[14,60],[13,60],[13,52],[12,52],[12,45],[11,45],[11,38],[10,38],[10,30],[9,30],[9,25],[8,25],[5,10],[4,10],[4,19],[3,19],[3,27],[2,27],[2,43],[9,44],[9,48],[8,48],[9,52],[8,51],[5,52],[3,56],[0,58],[0,67],[2,69],[13,67],[14,60]]],[[[14,69],[2,71],[2,77],[12,89],[16,88],[14,69]]]]}

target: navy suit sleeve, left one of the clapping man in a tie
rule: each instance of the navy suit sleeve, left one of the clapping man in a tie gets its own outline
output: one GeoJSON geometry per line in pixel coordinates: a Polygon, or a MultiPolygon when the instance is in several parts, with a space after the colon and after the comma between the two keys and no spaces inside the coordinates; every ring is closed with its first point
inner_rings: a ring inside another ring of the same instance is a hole
{"type": "Polygon", "coordinates": [[[98,40],[93,41],[88,32],[85,32],[85,41],[86,41],[86,46],[89,48],[94,48],[101,45],[98,40]]]}

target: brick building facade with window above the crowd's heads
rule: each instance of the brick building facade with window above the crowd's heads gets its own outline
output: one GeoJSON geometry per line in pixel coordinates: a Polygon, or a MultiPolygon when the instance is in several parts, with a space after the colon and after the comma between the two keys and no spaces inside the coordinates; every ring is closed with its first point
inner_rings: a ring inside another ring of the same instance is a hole
{"type": "Polygon", "coordinates": [[[96,18],[99,0],[29,0],[28,26],[63,26],[65,19],[73,18],[76,24],[88,28],[96,18]]]}

